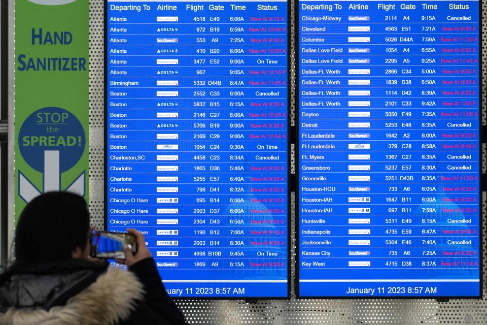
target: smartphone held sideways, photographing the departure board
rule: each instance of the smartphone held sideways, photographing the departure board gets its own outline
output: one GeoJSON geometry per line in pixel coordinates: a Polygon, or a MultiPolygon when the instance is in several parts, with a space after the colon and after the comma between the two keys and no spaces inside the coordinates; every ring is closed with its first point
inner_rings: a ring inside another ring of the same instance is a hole
{"type": "Polygon", "coordinates": [[[132,250],[132,253],[137,252],[135,236],[131,234],[93,231],[90,236],[90,256],[125,259],[124,244],[132,250]]]}

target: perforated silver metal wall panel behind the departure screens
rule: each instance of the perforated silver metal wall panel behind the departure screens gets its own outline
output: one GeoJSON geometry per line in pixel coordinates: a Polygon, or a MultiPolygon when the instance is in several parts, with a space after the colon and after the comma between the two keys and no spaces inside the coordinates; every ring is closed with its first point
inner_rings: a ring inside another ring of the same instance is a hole
{"type": "MultiPolygon", "coordinates": [[[[294,12],[294,3],[291,4],[294,12]]],[[[487,21],[487,2],[482,3],[483,21],[487,21]]],[[[291,54],[294,53],[294,18],[289,31],[291,54]]],[[[487,25],[483,33],[483,115],[486,124],[485,94],[487,94],[487,25]]],[[[103,228],[103,1],[90,1],[90,211],[93,224],[103,228]]],[[[292,60],[294,62],[294,59],[292,60]]],[[[295,69],[291,67],[291,75],[295,69]]],[[[294,80],[291,82],[294,87],[294,80]]],[[[291,91],[291,107],[294,108],[294,90],[291,91]]],[[[290,116],[294,119],[294,109],[290,116]]],[[[292,121],[294,126],[294,121],[292,121]]],[[[291,148],[293,152],[293,147],[291,148]]],[[[486,148],[482,146],[483,172],[485,172],[486,148]]],[[[294,163],[294,161],[293,161],[294,163]]],[[[293,164],[294,165],[294,164],[293,164]]],[[[294,166],[291,167],[294,172],[294,166]]],[[[293,193],[294,194],[294,193],[293,193]]],[[[487,252],[486,193],[483,192],[483,251],[487,252]]],[[[294,195],[291,211],[294,209],[294,195]]],[[[294,227],[295,216],[292,215],[294,227]]],[[[294,255],[295,238],[291,238],[294,255]]],[[[483,295],[487,297],[487,265],[484,257],[483,295]]],[[[294,262],[294,258],[293,258],[294,262]]],[[[294,263],[293,263],[294,265],[294,263]]],[[[292,269],[294,278],[295,270],[292,269]]],[[[289,301],[267,300],[247,303],[245,301],[199,301],[177,302],[188,323],[199,324],[487,324],[487,298],[483,300],[296,300],[294,288],[289,301]]]]}

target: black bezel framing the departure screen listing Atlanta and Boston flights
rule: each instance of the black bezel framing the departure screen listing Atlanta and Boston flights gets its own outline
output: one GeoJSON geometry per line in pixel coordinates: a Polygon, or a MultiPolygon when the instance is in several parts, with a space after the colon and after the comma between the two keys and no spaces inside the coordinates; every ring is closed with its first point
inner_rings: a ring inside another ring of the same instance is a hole
{"type": "MultiPolygon", "coordinates": [[[[250,300],[250,301],[255,301],[255,300],[288,300],[291,296],[291,285],[292,285],[292,279],[291,279],[291,234],[292,234],[292,227],[291,227],[291,179],[294,175],[291,175],[291,59],[292,59],[292,53],[290,53],[291,49],[291,1],[292,0],[287,0],[287,33],[288,33],[288,40],[287,40],[287,56],[288,56],[288,69],[287,69],[287,74],[288,74],[288,86],[287,86],[287,112],[288,112],[288,133],[287,133],[287,159],[288,159],[288,181],[287,181],[287,188],[288,188],[288,207],[287,207],[287,265],[288,265],[288,274],[287,274],[287,296],[283,297],[272,297],[272,296],[267,296],[267,297],[197,297],[197,296],[192,296],[192,297],[171,297],[172,299],[175,300],[250,300]]],[[[116,2],[116,1],[114,1],[116,2]]],[[[162,2],[162,1],[161,1],[162,2]]],[[[189,2],[189,1],[188,1],[189,2]]],[[[249,1],[251,2],[251,1],[249,1]]],[[[283,1],[284,2],[284,1],[283,1]]],[[[228,1],[228,3],[231,3],[231,1],[228,1]]],[[[104,197],[104,202],[103,202],[103,222],[104,222],[104,227],[103,229],[107,231],[108,226],[107,226],[107,221],[108,221],[108,179],[107,179],[107,167],[108,167],[108,157],[107,157],[107,149],[108,149],[108,127],[107,127],[107,122],[108,122],[108,0],[103,0],[103,38],[105,39],[105,43],[103,45],[103,63],[104,63],[104,73],[103,73],[103,85],[105,86],[104,88],[104,96],[103,96],[103,107],[104,113],[103,113],[103,125],[105,126],[103,129],[103,179],[104,179],[104,192],[103,192],[103,197],[104,197]]],[[[177,271],[177,270],[175,270],[177,271]]]]}

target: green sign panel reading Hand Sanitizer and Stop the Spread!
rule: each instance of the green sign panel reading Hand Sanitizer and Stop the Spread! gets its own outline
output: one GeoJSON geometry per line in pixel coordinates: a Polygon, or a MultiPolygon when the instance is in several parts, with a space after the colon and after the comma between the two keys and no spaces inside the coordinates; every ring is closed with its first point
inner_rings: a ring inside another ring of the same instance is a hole
{"type": "Polygon", "coordinates": [[[42,192],[87,199],[88,56],[87,1],[15,2],[16,218],[42,192]]]}

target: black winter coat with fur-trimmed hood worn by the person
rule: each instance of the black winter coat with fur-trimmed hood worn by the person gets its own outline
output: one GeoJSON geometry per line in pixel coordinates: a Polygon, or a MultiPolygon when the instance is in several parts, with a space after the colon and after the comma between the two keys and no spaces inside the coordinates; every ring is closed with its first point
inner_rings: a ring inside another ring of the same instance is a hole
{"type": "Polygon", "coordinates": [[[185,324],[167,295],[154,259],[129,271],[69,259],[15,265],[0,276],[2,325],[185,324]]]}

